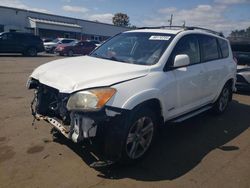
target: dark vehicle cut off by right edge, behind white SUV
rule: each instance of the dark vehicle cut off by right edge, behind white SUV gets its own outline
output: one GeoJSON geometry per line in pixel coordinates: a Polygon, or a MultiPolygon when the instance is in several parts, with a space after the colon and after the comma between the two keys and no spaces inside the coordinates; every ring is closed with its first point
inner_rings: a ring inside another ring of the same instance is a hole
{"type": "Polygon", "coordinates": [[[250,42],[231,43],[234,57],[237,59],[238,91],[250,91],[250,42]]]}

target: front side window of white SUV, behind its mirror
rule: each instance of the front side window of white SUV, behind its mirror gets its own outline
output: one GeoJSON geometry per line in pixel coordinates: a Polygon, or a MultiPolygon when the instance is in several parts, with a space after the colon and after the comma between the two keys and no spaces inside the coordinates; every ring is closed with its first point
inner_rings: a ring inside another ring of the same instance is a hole
{"type": "Polygon", "coordinates": [[[200,62],[199,42],[195,35],[184,36],[176,45],[173,52],[173,59],[176,55],[186,54],[190,59],[190,64],[200,62]]]}

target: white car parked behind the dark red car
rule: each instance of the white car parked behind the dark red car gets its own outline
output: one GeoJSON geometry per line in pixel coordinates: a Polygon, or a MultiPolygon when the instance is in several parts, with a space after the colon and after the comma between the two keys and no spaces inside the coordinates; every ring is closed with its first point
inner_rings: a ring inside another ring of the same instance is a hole
{"type": "Polygon", "coordinates": [[[45,42],[44,47],[47,53],[54,53],[54,50],[59,44],[70,45],[71,43],[77,42],[77,39],[69,38],[56,38],[51,42],[45,42]]]}

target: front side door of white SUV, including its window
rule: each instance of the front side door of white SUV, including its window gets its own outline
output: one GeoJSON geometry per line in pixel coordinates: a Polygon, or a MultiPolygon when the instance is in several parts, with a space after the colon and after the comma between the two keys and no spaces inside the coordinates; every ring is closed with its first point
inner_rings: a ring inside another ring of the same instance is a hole
{"type": "MultiPolygon", "coordinates": [[[[167,116],[179,116],[201,106],[205,83],[205,70],[200,58],[198,37],[186,35],[179,40],[170,56],[170,72],[176,81],[176,103],[167,116]],[[184,67],[173,67],[176,55],[186,54],[190,64],[184,67]]],[[[168,72],[167,72],[168,73],[168,72]]],[[[167,89],[167,88],[166,88],[167,89]]],[[[167,105],[169,101],[165,101],[167,105]]]]}

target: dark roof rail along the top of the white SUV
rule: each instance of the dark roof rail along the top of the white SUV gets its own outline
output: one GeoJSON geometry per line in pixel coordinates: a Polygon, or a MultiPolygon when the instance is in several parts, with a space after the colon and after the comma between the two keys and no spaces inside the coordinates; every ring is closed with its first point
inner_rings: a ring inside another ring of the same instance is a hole
{"type": "Polygon", "coordinates": [[[206,28],[203,28],[203,27],[193,27],[193,26],[156,26],[156,27],[139,27],[137,29],[165,29],[165,28],[168,28],[168,29],[183,29],[183,30],[195,30],[195,29],[198,29],[198,30],[203,30],[203,31],[218,35],[220,37],[224,37],[222,32],[213,31],[211,29],[206,29],[206,28]]]}

